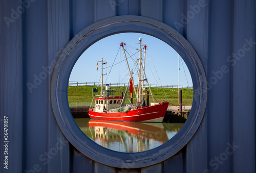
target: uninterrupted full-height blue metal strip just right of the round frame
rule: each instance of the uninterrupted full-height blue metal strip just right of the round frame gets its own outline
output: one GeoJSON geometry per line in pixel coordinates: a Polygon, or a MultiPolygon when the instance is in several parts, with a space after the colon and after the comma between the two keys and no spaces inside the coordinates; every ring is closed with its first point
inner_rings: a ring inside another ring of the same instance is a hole
{"type": "MultiPolygon", "coordinates": [[[[218,161],[220,155],[225,152],[227,143],[230,142],[232,112],[230,112],[230,92],[232,84],[231,70],[216,77],[216,73],[222,66],[230,69],[227,57],[230,55],[232,46],[232,2],[210,2],[210,33],[208,37],[209,53],[207,64],[208,82],[208,169],[218,172],[232,172],[232,157],[225,159],[225,163],[218,161]],[[222,163],[222,164],[221,164],[222,163]],[[224,163],[224,164],[223,164],[224,163]]],[[[218,72],[219,74],[219,72],[218,72]]]]}

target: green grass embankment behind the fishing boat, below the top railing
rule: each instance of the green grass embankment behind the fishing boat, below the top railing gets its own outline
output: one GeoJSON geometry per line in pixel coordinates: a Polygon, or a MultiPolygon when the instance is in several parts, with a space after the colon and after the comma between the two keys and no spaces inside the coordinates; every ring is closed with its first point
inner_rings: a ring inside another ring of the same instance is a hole
{"type": "MultiPolygon", "coordinates": [[[[92,89],[96,88],[96,86],[68,86],[68,101],[70,107],[76,106],[87,106],[91,104],[92,102],[92,89]]],[[[116,94],[115,96],[121,95],[121,91],[125,91],[125,87],[111,87],[111,89],[115,89],[116,94]]],[[[137,88],[136,88],[137,89],[137,88]]],[[[101,87],[98,88],[98,91],[100,93],[101,87]]],[[[178,88],[151,88],[151,91],[153,93],[154,98],[158,102],[166,101],[164,98],[164,92],[168,98],[168,101],[170,102],[170,106],[172,105],[179,105],[178,101],[178,88]]],[[[129,93],[130,94],[130,93],[129,93]]],[[[97,93],[96,93],[97,95],[97,93]]],[[[135,97],[135,94],[134,94],[135,97]]],[[[135,99],[134,99],[135,101],[135,99]]],[[[182,89],[182,101],[183,105],[191,105],[193,101],[193,89],[182,89]]],[[[156,102],[153,101],[152,97],[150,97],[150,102],[156,102]]],[[[130,103],[129,101],[126,101],[126,103],[130,103]]]]}

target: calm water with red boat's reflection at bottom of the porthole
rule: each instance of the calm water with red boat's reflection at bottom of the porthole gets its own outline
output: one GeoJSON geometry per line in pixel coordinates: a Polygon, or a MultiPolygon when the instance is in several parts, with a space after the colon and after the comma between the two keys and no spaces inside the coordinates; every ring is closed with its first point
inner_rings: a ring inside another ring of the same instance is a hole
{"type": "Polygon", "coordinates": [[[172,138],[184,123],[124,122],[75,119],[78,127],[97,144],[118,152],[135,153],[154,149],[172,138]]]}

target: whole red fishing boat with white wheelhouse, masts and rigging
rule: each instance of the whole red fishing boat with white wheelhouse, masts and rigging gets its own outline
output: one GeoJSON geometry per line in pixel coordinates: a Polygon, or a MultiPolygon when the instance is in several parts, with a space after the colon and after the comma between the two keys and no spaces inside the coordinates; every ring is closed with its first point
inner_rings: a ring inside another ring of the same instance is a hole
{"type": "MultiPolygon", "coordinates": [[[[89,116],[93,119],[102,119],[102,120],[117,120],[117,121],[150,121],[150,122],[162,122],[166,110],[168,108],[168,102],[161,103],[149,103],[146,104],[145,96],[152,96],[153,94],[150,89],[150,85],[148,84],[146,75],[145,75],[145,55],[146,55],[146,45],[141,43],[141,38],[139,39],[139,59],[137,59],[138,64],[138,87],[137,91],[135,89],[134,80],[133,80],[133,72],[130,70],[130,66],[127,61],[127,57],[125,54],[124,45],[125,43],[121,43],[125,61],[127,64],[127,68],[129,69],[130,78],[127,84],[126,90],[124,92],[124,96],[110,96],[111,90],[108,85],[106,85],[105,90],[103,91],[103,65],[106,62],[101,61],[101,93],[97,98],[94,98],[95,107],[91,107],[89,109],[89,116]],[[144,50],[144,57],[142,58],[142,50],[144,50]],[[149,88],[147,92],[147,88],[145,84],[149,88]],[[134,92],[135,91],[135,92],[134,92]],[[131,93],[131,99],[128,99],[131,104],[124,104],[127,100],[128,92],[131,93]],[[136,104],[133,104],[133,93],[136,96],[136,104]]],[[[131,56],[130,56],[131,57],[131,56]]],[[[130,58],[128,57],[128,58],[130,58]]]]}

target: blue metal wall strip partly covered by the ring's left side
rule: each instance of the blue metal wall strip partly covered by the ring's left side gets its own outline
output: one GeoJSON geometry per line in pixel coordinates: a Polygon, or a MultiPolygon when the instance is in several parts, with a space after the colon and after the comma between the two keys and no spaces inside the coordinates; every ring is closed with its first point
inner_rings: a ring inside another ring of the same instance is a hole
{"type": "MultiPolygon", "coordinates": [[[[49,78],[46,79],[47,83],[47,101],[51,103],[50,88],[51,88],[51,77],[53,73],[53,64],[56,63],[63,48],[67,45],[70,40],[70,20],[69,20],[69,0],[65,1],[48,1],[47,4],[47,64],[49,78]]],[[[52,112],[50,104],[47,105],[47,118],[46,126],[47,137],[48,137],[48,151],[52,154],[51,161],[47,166],[47,172],[69,172],[70,163],[70,150],[69,142],[63,136],[60,131],[55,117],[52,112]],[[62,143],[60,143],[62,141],[62,143]],[[58,147],[60,145],[61,147],[58,147]],[[56,151],[57,153],[53,153],[56,151]],[[51,153],[52,152],[52,153],[51,153]]]]}

